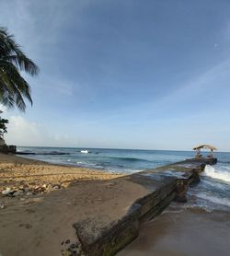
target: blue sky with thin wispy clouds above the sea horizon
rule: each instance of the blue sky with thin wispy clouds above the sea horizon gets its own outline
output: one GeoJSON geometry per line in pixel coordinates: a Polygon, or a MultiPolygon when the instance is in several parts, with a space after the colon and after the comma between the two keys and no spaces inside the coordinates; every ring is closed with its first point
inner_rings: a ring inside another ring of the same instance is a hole
{"type": "Polygon", "coordinates": [[[12,145],[230,151],[230,1],[0,0],[40,67],[12,145]]]}

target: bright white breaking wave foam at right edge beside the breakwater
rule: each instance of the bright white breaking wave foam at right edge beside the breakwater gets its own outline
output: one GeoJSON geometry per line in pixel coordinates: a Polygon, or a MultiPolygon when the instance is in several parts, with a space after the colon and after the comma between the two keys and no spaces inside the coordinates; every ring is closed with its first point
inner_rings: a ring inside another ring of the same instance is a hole
{"type": "Polygon", "coordinates": [[[228,167],[214,168],[213,166],[206,166],[204,169],[204,175],[213,179],[230,182],[230,169],[228,167]]]}

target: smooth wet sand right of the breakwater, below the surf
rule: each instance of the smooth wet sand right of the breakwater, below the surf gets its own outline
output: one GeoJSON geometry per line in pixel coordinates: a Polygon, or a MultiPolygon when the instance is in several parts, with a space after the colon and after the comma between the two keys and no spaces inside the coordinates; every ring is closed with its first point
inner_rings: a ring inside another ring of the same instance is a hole
{"type": "Polygon", "coordinates": [[[207,213],[169,206],[165,213],[144,223],[140,234],[118,256],[229,255],[230,213],[207,213]],[[176,211],[175,211],[176,210],[176,211]]]}

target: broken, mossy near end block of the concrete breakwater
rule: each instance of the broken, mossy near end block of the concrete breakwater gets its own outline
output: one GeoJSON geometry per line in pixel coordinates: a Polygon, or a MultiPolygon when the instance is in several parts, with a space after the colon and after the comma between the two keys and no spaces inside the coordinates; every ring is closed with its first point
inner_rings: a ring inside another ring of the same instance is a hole
{"type": "Polygon", "coordinates": [[[117,222],[109,223],[108,227],[103,227],[97,235],[94,230],[98,227],[94,227],[95,223],[90,219],[76,223],[74,227],[86,255],[112,255],[135,239],[139,231],[140,210],[140,204],[133,204],[126,215],[117,222]]]}

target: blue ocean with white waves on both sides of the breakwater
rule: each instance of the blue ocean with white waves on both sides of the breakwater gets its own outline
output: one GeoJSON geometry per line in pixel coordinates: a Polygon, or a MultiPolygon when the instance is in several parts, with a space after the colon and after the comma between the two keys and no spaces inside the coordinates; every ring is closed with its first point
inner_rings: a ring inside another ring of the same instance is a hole
{"type": "MultiPolygon", "coordinates": [[[[73,147],[17,147],[20,152],[33,152],[23,157],[39,159],[53,164],[101,169],[106,172],[131,174],[153,169],[193,157],[192,151],[102,149],[73,147]]],[[[201,207],[206,211],[230,212],[230,153],[217,152],[218,163],[206,166],[201,182],[188,192],[184,207],[201,207]]]]}

